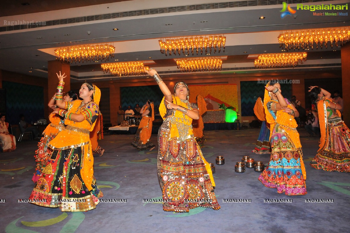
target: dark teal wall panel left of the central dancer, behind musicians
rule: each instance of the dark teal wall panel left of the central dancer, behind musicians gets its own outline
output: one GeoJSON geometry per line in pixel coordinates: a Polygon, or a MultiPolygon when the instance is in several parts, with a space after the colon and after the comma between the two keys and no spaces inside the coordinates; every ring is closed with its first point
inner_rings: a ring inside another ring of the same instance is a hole
{"type": "MultiPolygon", "coordinates": [[[[154,102],[155,113],[159,113],[158,109],[162,98],[163,94],[158,85],[120,88],[121,107],[124,110],[126,110],[129,105],[131,109],[134,110],[136,104],[139,104],[141,108],[147,100],[152,100],[154,102]]],[[[116,108],[118,108],[118,106],[116,106],[116,108]]]]}

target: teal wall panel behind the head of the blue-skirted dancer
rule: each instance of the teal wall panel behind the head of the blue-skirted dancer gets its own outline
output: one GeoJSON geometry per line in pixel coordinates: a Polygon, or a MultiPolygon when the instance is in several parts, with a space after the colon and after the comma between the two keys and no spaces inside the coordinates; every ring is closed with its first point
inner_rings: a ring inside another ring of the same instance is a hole
{"type": "MultiPolygon", "coordinates": [[[[281,91],[283,97],[290,100],[292,96],[292,80],[281,80],[283,82],[290,82],[288,84],[281,83],[281,91]]],[[[265,83],[258,83],[258,81],[241,81],[241,116],[255,116],[254,104],[260,96],[264,99],[265,83]]]]}

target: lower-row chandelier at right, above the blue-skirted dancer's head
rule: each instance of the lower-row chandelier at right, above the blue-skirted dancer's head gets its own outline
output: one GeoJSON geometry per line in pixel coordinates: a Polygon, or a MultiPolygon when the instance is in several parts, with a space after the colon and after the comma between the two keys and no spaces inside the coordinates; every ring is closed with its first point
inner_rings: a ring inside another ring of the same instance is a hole
{"type": "Polygon", "coordinates": [[[256,68],[281,68],[295,67],[299,63],[306,61],[306,52],[300,53],[267,53],[259,54],[258,59],[254,60],[256,68]]]}

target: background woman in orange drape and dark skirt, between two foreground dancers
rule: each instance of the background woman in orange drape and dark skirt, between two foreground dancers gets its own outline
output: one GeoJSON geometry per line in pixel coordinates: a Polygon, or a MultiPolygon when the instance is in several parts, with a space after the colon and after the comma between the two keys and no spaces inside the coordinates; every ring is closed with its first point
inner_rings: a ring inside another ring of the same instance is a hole
{"type": "Polygon", "coordinates": [[[154,121],[153,102],[148,100],[147,103],[141,108],[140,113],[142,119],[131,145],[138,150],[153,150],[155,145],[149,141],[152,134],[152,122],[154,121]]]}

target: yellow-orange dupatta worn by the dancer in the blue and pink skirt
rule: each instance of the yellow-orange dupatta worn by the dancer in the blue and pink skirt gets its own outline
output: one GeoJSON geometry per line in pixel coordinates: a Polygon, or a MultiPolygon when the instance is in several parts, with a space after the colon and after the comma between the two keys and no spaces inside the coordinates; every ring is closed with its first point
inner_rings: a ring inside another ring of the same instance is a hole
{"type": "MultiPolygon", "coordinates": [[[[266,87],[269,86],[269,82],[266,84],[266,87]]],[[[269,91],[265,88],[265,95],[264,95],[264,109],[265,109],[265,115],[266,115],[266,122],[270,124],[270,141],[271,136],[273,133],[273,129],[276,124],[279,124],[279,126],[286,132],[286,137],[289,138],[289,142],[294,146],[295,150],[301,150],[301,143],[299,136],[297,136],[293,129],[296,129],[298,126],[294,117],[290,116],[287,112],[283,112],[283,109],[276,111],[276,119],[273,118],[271,112],[267,109],[267,103],[268,102],[274,102],[278,103],[278,101],[273,100],[269,94],[269,91]]],[[[288,104],[288,108],[292,109],[292,107],[288,104]]],[[[306,180],[306,170],[305,165],[302,156],[300,155],[300,167],[301,172],[303,174],[304,180],[306,180]]]]}

